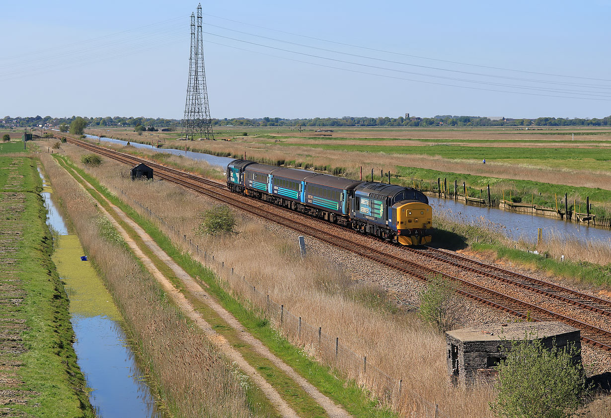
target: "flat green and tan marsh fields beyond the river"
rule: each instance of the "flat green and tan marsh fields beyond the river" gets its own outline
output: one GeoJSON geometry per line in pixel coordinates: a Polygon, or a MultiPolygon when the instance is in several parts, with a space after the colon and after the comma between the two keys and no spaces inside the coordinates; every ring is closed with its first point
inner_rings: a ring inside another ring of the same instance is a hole
{"type": "MultiPolygon", "coordinates": [[[[239,157],[267,164],[284,164],[358,178],[363,166],[367,176],[375,168],[391,171],[393,182],[414,185],[423,179],[424,187],[437,178],[453,183],[463,181],[478,193],[491,185],[497,202],[506,195],[555,207],[568,194],[585,207],[590,197],[593,213],[611,215],[611,129],[610,128],[222,128],[218,139],[192,141],[188,147],[221,156],[239,157]],[[243,134],[247,135],[243,135],[243,134]],[[573,140],[573,135],[575,140],[573,140]],[[330,136],[320,136],[330,135],[330,136]],[[481,161],[486,159],[486,164],[481,161]]],[[[92,130],[115,138],[156,143],[181,148],[179,132],[145,132],[130,129],[92,130]]],[[[563,204],[561,204],[563,206],[563,204]]]]}

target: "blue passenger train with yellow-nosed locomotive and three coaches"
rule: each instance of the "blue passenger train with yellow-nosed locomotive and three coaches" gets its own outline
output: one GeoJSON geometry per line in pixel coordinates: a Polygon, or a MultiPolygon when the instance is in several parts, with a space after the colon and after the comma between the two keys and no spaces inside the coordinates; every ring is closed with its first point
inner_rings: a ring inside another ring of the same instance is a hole
{"type": "Polygon", "coordinates": [[[400,245],[433,237],[433,211],[419,190],[237,159],[227,165],[235,193],[292,209],[400,245]]]}

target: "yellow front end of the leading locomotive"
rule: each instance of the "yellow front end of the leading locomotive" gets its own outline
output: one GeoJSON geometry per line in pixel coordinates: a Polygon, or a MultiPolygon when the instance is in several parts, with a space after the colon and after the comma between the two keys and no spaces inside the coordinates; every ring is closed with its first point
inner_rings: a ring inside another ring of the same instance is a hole
{"type": "Polygon", "coordinates": [[[409,202],[395,207],[397,241],[403,245],[421,245],[431,242],[433,211],[422,202],[409,202]]]}

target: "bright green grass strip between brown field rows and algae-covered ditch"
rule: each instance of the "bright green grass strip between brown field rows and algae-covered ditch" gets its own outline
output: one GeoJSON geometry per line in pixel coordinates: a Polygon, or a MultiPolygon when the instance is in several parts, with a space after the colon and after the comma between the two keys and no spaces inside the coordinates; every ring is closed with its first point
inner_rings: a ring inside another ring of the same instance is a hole
{"type": "MultiPolygon", "coordinates": [[[[0,157],[0,167],[12,158],[0,157]]],[[[68,314],[68,298],[55,265],[51,261],[53,244],[46,226],[42,189],[34,160],[21,158],[18,172],[24,176],[15,191],[25,192],[26,209],[16,218],[0,219],[0,228],[23,222],[23,241],[16,250],[18,277],[26,296],[23,302],[1,312],[2,317],[24,319],[23,345],[27,349],[15,360],[22,363],[16,370],[23,381],[20,390],[32,391],[27,405],[10,405],[35,417],[93,417],[87,398],[84,377],[76,363],[71,345],[74,333],[68,314]]],[[[4,172],[0,169],[0,173],[4,172]]],[[[0,175],[2,186],[5,174],[0,175]]],[[[0,199],[4,199],[3,194],[0,199]]],[[[2,276],[0,274],[0,276],[2,276]]],[[[0,387],[0,390],[4,389],[0,387]]]]}

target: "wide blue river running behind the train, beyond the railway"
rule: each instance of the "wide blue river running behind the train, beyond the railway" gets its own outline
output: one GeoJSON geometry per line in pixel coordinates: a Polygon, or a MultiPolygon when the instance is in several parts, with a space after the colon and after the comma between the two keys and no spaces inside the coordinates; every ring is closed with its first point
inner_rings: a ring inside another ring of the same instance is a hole
{"type": "MultiPolygon", "coordinates": [[[[86,136],[93,140],[121,145],[127,144],[127,142],[118,139],[99,138],[93,135],[86,136]]],[[[155,148],[152,145],[136,142],[130,142],[130,145],[136,148],[155,148]]],[[[222,168],[226,168],[227,164],[233,160],[233,158],[218,157],[192,151],[186,151],[185,153],[184,150],[175,150],[174,148],[155,148],[155,150],[160,153],[177,154],[196,160],[203,160],[210,165],[222,168]]],[[[431,196],[428,199],[434,211],[445,212],[456,222],[492,227],[514,240],[524,239],[528,242],[536,242],[537,228],[543,228],[544,237],[554,234],[555,236],[562,237],[562,239],[573,242],[609,243],[611,245],[611,231],[609,229],[595,228],[555,218],[517,214],[515,212],[503,211],[496,207],[469,206],[458,201],[439,199],[431,196]]]]}

